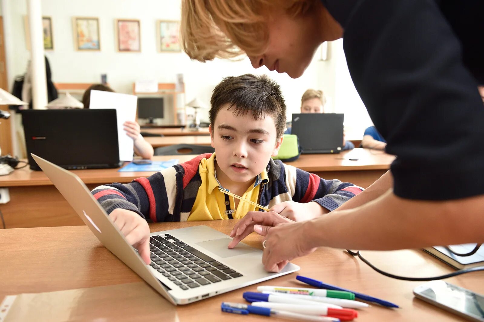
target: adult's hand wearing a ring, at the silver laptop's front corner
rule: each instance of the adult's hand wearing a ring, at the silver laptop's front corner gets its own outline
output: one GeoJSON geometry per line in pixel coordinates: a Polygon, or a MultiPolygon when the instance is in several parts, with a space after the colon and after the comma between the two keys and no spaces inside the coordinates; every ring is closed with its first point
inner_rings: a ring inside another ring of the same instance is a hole
{"type": "Polygon", "coordinates": [[[268,272],[279,272],[296,257],[312,253],[305,230],[311,224],[306,222],[283,223],[267,232],[262,263],[268,272]]]}

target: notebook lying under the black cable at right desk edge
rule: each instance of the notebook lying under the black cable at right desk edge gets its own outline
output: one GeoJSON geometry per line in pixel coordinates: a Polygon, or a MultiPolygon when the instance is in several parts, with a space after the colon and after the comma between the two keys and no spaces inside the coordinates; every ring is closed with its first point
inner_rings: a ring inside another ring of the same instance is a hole
{"type": "MultiPolygon", "coordinates": [[[[461,245],[451,245],[450,248],[460,254],[465,254],[470,252],[476,244],[461,244],[461,245]]],[[[484,247],[481,246],[479,250],[470,256],[457,256],[451,253],[448,249],[443,246],[434,246],[423,249],[429,254],[437,257],[444,263],[447,263],[454,268],[470,268],[477,266],[484,266],[484,247]]]]}

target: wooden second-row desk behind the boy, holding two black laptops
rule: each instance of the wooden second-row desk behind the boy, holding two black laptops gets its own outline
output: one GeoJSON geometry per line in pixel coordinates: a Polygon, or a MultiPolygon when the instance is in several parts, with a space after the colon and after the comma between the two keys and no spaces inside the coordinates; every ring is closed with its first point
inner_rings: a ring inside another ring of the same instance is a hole
{"type": "MultiPolygon", "coordinates": [[[[156,156],[154,160],[178,159],[180,163],[194,155],[156,156]]],[[[302,154],[287,164],[313,172],[325,179],[337,178],[366,188],[390,167],[394,157],[378,151],[357,148],[340,154],[302,154]],[[358,161],[348,159],[357,158],[358,161]]],[[[118,172],[119,169],[73,170],[88,186],[128,183],[153,172],[118,172]]],[[[0,205],[7,228],[83,225],[72,207],[42,171],[29,167],[0,176],[0,187],[9,188],[10,202],[0,205]]],[[[1,227],[1,226],[0,226],[1,227]]]]}

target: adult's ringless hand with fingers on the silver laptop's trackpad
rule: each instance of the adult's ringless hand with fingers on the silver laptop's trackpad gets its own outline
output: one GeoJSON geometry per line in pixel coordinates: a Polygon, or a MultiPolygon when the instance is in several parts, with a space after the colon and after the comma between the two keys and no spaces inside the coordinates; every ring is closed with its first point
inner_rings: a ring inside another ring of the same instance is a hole
{"type": "Polygon", "coordinates": [[[234,229],[232,229],[230,237],[233,237],[234,239],[230,242],[230,244],[228,244],[228,248],[234,248],[242,239],[254,231],[259,235],[265,236],[272,227],[280,223],[289,222],[294,221],[289,220],[273,211],[249,211],[235,224],[234,229]]]}

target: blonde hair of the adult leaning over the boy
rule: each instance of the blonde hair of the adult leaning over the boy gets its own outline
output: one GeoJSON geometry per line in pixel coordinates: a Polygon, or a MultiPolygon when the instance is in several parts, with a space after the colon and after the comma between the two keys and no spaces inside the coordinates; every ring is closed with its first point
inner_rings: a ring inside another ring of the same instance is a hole
{"type": "Polygon", "coordinates": [[[182,0],[181,45],[198,61],[260,55],[269,39],[271,9],[291,16],[308,11],[320,0],[182,0]],[[242,49],[243,48],[243,49],[242,49]]]}

